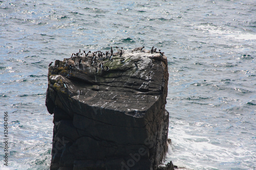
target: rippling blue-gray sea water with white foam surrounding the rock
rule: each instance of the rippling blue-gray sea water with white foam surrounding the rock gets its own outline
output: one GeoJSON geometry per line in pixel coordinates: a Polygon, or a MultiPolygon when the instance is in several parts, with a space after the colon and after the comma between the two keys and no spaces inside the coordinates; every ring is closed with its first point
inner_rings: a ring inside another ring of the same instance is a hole
{"type": "Polygon", "coordinates": [[[168,59],[166,161],[256,169],[256,2],[249,0],[0,1],[0,131],[8,111],[8,168],[49,169],[51,61],[79,48],[142,45],[168,59]]]}

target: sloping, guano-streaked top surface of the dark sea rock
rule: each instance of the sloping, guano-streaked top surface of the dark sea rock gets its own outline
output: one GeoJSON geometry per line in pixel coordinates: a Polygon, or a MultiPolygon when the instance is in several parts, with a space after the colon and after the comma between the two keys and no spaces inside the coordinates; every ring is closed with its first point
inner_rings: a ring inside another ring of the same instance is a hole
{"type": "Polygon", "coordinates": [[[134,117],[143,117],[167,88],[165,55],[126,50],[121,57],[92,60],[77,56],[56,60],[49,67],[50,87],[81,104],[134,117]]]}

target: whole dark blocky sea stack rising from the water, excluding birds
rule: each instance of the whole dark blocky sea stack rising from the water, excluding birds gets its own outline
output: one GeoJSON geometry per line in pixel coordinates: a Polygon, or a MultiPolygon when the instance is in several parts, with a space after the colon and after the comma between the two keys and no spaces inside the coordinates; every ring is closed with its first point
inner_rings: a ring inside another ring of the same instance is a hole
{"type": "Polygon", "coordinates": [[[167,151],[166,57],[127,50],[92,59],[49,67],[51,169],[157,169],[167,151]]]}

